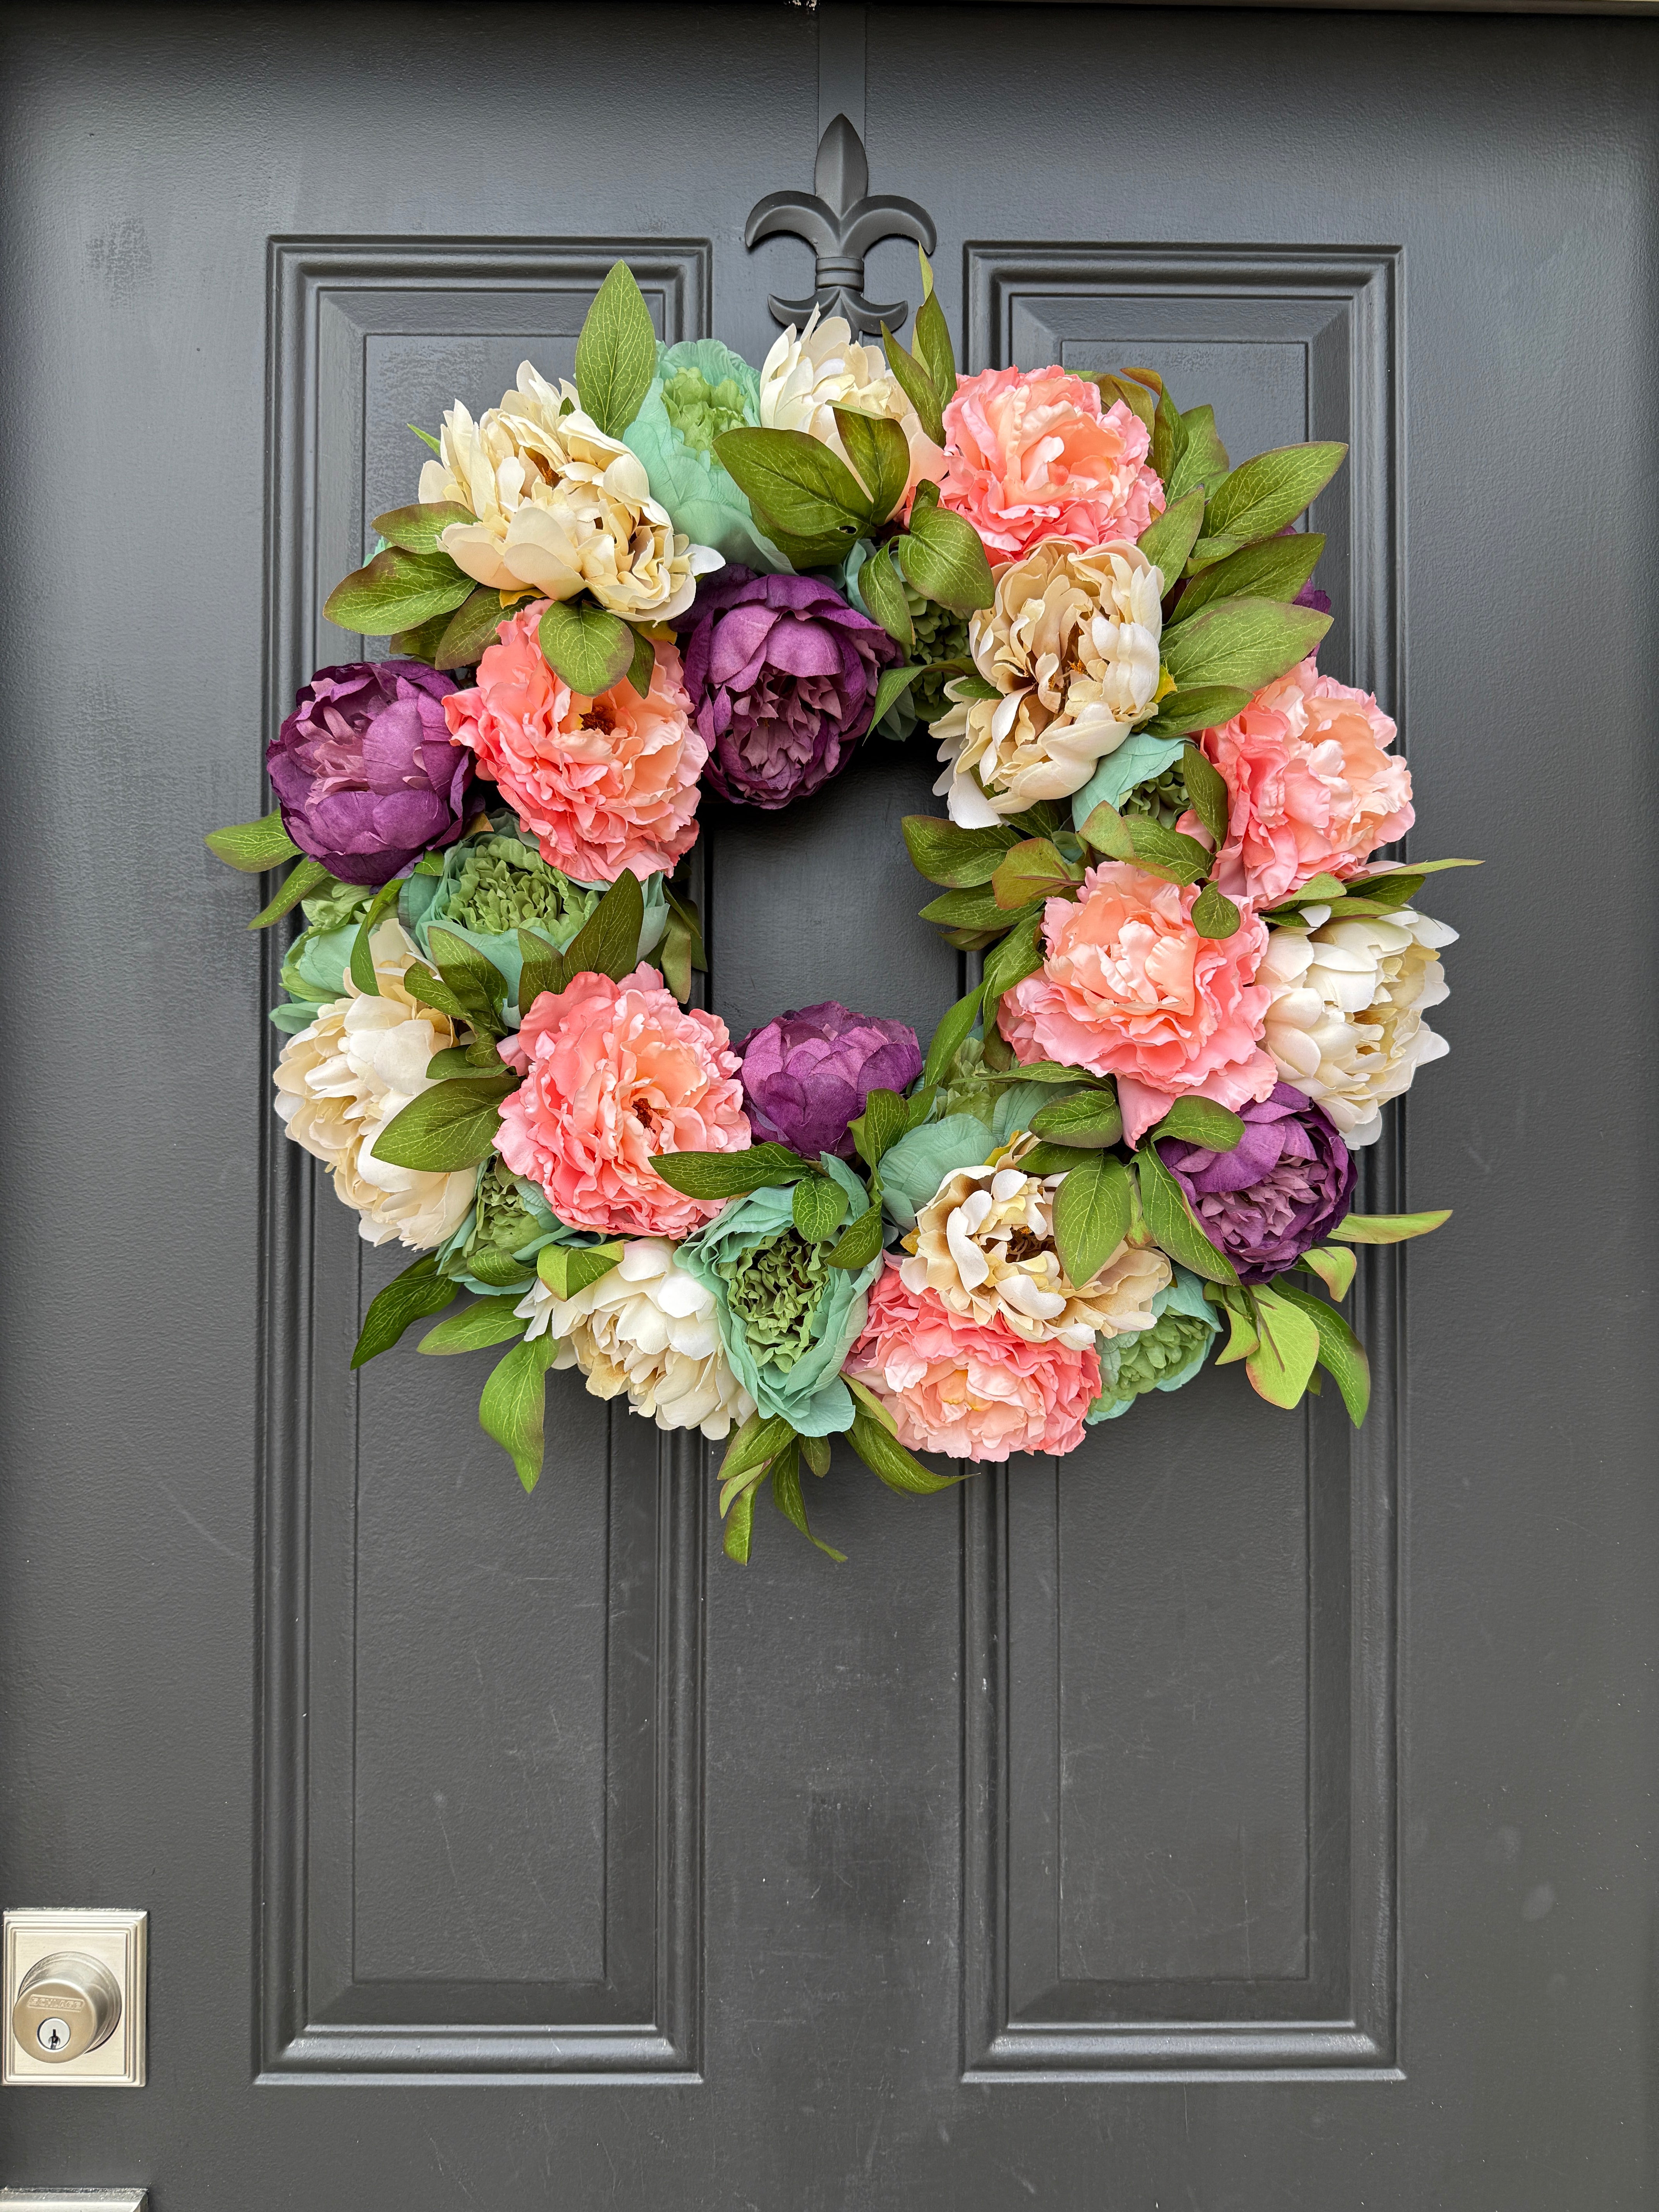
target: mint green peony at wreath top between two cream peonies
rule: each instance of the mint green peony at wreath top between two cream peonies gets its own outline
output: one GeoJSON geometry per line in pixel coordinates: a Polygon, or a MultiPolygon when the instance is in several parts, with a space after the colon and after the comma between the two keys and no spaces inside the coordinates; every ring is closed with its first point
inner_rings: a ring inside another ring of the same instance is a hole
{"type": "Polygon", "coordinates": [[[728,562],[776,575],[790,564],[714,456],[721,431],[759,425],[759,400],[761,378],[719,338],[659,345],[657,378],[622,442],[646,465],[650,495],[677,531],[728,562]]]}

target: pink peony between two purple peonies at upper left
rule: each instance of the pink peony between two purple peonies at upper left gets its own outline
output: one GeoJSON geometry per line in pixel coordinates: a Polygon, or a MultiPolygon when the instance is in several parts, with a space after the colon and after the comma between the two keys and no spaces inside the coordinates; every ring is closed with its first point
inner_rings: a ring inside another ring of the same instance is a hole
{"type": "Polygon", "coordinates": [[[668,869],[697,843],[697,776],[708,745],[690,719],[679,653],[657,646],[646,699],[624,677],[584,699],[538,644],[549,602],[502,622],[473,690],[445,699],[456,745],[500,785],[542,858],[577,883],[668,869]]]}

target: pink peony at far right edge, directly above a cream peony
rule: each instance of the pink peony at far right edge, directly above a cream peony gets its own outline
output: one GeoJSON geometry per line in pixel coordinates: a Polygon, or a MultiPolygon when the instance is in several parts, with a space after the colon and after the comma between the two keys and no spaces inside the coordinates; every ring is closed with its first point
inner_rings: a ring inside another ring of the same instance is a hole
{"type": "MultiPolygon", "coordinates": [[[[1352,876],[1416,821],[1411,770],[1369,692],[1323,677],[1314,655],[1197,743],[1228,783],[1228,843],[1214,867],[1228,898],[1272,905],[1321,872],[1352,876]]],[[[1181,827],[1203,836],[1197,816],[1181,827]]],[[[1208,836],[1203,836],[1208,843],[1208,836]]]]}

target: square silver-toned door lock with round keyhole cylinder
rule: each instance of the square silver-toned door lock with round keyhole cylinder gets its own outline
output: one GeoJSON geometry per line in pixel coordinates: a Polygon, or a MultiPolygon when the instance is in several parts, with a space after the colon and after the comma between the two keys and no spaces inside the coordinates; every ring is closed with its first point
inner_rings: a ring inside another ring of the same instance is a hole
{"type": "MultiPolygon", "coordinates": [[[[7,2088],[142,2088],[144,1951],[144,1913],[9,1911],[0,2026],[7,2088]]],[[[0,2208],[7,2201],[0,2190],[0,2208]]]]}

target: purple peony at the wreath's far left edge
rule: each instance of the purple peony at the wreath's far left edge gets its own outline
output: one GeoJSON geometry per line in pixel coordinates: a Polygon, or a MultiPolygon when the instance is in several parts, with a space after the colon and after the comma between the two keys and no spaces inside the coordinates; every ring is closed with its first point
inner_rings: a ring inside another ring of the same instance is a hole
{"type": "Polygon", "coordinates": [[[473,757],[449,741],[456,686],[425,661],[319,668],[265,748],[283,830],[341,883],[389,883],[460,836],[473,757]]]}

